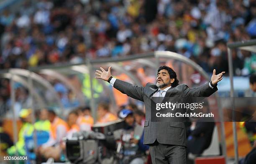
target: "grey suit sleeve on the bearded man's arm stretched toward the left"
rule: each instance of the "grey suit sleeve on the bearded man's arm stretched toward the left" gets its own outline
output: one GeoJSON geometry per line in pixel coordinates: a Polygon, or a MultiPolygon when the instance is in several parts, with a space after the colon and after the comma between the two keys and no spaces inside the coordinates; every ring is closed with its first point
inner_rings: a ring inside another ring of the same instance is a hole
{"type": "Polygon", "coordinates": [[[142,87],[142,86],[135,86],[131,83],[127,83],[125,81],[116,79],[115,83],[114,83],[114,88],[116,88],[118,91],[126,94],[127,96],[129,96],[131,98],[135,98],[137,100],[144,101],[143,100],[144,87],[142,87]]]}

